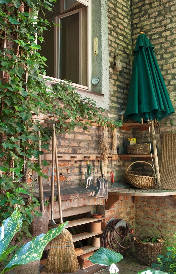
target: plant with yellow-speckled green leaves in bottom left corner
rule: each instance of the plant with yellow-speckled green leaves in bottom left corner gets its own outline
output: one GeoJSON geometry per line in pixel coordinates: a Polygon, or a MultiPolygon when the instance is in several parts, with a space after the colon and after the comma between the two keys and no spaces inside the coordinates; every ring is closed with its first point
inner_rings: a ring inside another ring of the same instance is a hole
{"type": "MultiPolygon", "coordinates": [[[[22,215],[17,209],[10,217],[2,221],[2,226],[0,227],[0,262],[15,250],[16,246],[9,247],[9,245],[12,238],[21,228],[22,222],[22,215]]],[[[6,273],[17,266],[40,260],[45,246],[62,232],[62,229],[67,223],[68,222],[60,225],[58,228],[48,230],[46,234],[42,233],[39,236],[34,237],[27,244],[24,244],[24,246],[19,248],[10,258],[10,261],[4,267],[1,274],[6,273]]]]}

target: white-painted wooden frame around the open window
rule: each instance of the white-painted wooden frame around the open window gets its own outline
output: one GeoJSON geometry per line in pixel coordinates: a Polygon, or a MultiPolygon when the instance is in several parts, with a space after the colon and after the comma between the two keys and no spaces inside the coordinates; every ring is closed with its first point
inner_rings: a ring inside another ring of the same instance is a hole
{"type": "MultiPolygon", "coordinates": [[[[83,90],[92,90],[92,8],[91,8],[91,0],[77,0],[80,3],[84,4],[87,7],[86,10],[86,20],[87,20],[87,27],[86,27],[86,83],[87,85],[80,85],[76,83],[72,83],[74,87],[83,89],[83,90]]],[[[80,9],[81,10],[81,9],[80,9]]],[[[79,9],[74,10],[72,12],[64,13],[62,15],[56,16],[55,18],[55,24],[59,25],[60,19],[64,18],[66,16],[75,14],[79,11],[79,9]]],[[[82,12],[81,12],[82,13],[82,12]]],[[[81,15],[82,16],[82,15],[81,15]]],[[[59,60],[59,52],[60,52],[60,44],[59,44],[59,26],[55,26],[54,30],[54,45],[56,45],[54,49],[54,59],[59,60]]],[[[81,39],[80,39],[81,40],[81,39]]],[[[80,48],[81,48],[81,41],[80,41],[80,48]]],[[[79,64],[81,65],[81,64],[79,64]]],[[[59,62],[56,63],[56,66],[54,67],[54,75],[55,77],[49,77],[49,76],[44,76],[44,78],[50,78],[53,79],[54,81],[63,81],[59,79],[59,62]]]]}

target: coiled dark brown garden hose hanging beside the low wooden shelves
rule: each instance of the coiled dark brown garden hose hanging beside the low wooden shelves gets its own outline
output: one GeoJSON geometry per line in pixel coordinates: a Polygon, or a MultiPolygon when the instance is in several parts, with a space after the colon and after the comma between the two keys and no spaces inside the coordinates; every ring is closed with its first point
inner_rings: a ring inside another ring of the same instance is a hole
{"type": "Polygon", "coordinates": [[[119,226],[120,233],[116,229],[116,225],[121,219],[110,222],[102,235],[101,246],[106,248],[106,242],[111,249],[116,250],[120,254],[125,253],[132,245],[133,236],[129,229],[128,224],[126,223],[126,228],[124,226],[119,226]],[[117,242],[116,234],[119,236],[120,241],[117,242]]]}

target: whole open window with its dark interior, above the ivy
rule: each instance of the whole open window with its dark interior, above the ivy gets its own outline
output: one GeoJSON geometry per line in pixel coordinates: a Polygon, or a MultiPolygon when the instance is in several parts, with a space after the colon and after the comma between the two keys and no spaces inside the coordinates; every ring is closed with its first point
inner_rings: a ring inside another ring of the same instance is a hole
{"type": "MultiPolygon", "coordinates": [[[[47,76],[70,80],[88,89],[89,58],[87,0],[60,0],[52,11],[46,11],[46,19],[52,24],[44,32],[41,55],[47,58],[47,76]],[[58,26],[60,25],[60,26],[58,26]]],[[[39,14],[42,17],[42,13],[39,14]]]]}

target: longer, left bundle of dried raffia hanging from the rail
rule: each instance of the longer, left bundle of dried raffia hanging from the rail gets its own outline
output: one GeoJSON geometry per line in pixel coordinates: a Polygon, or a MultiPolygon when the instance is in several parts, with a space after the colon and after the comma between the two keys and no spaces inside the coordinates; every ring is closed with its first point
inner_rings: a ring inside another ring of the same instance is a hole
{"type": "Polygon", "coordinates": [[[110,137],[111,130],[108,128],[107,124],[105,124],[103,132],[102,132],[102,137],[100,139],[100,147],[99,147],[99,155],[103,158],[103,163],[104,163],[104,175],[105,178],[107,176],[107,168],[108,168],[108,163],[109,163],[109,137],[110,137]]]}

